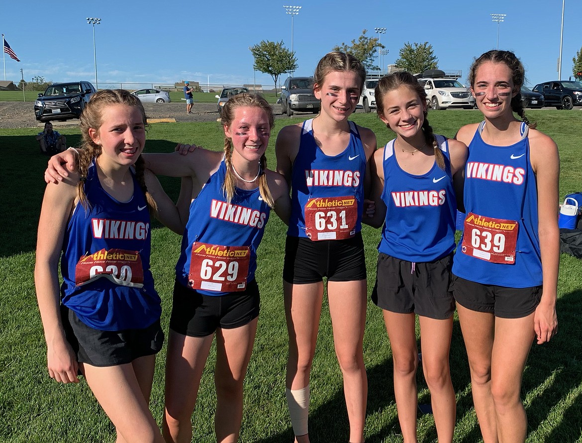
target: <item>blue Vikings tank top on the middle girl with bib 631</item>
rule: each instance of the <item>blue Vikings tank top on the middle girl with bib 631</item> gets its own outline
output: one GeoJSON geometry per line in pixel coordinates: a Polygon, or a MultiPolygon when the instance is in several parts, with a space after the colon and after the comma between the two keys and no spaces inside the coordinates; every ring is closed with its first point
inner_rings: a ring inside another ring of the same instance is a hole
{"type": "Polygon", "coordinates": [[[313,119],[303,122],[299,152],[291,176],[291,215],[287,234],[309,238],[306,205],[310,199],[349,197],[355,199],[357,217],[352,235],[361,231],[366,155],[356,123],[349,121],[350,141],[342,153],[326,155],[315,143],[313,119]]]}

